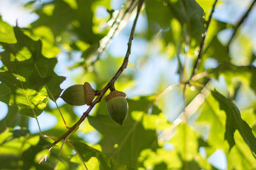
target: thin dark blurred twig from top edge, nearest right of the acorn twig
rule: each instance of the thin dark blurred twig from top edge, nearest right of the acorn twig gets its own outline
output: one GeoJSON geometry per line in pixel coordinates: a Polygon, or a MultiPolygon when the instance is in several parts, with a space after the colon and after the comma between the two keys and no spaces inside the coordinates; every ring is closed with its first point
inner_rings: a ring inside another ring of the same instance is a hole
{"type": "Polygon", "coordinates": [[[211,10],[211,14],[209,16],[209,19],[206,23],[206,28],[205,28],[205,32],[204,34],[202,35],[202,39],[201,39],[201,42],[200,42],[200,50],[198,52],[198,56],[197,56],[197,59],[196,59],[196,62],[195,62],[195,65],[194,65],[194,68],[193,68],[193,72],[188,80],[188,82],[191,80],[191,78],[195,75],[196,71],[198,70],[198,67],[199,67],[199,63],[200,61],[202,60],[202,54],[204,52],[204,42],[205,42],[205,37],[207,35],[207,30],[209,28],[209,25],[210,25],[210,22],[211,22],[211,18],[212,18],[212,13],[214,12],[214,9],[215,9],[215,6],[216,6],[216,3],[217,3],[218,0],[215,0],[214,4],[212,5],[212,10],[211,10]]]}

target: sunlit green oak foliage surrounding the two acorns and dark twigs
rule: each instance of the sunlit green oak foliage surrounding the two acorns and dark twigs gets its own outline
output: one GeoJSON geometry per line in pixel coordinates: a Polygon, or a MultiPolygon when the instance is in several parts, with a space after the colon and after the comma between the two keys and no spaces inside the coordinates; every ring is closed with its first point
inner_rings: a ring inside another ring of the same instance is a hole
{"type": "MultiPolygon", "coordinates": [[[[124,124],[109,117],[107,92],[56,146],[68,131],[61,114],[71,127],[88,108],[63,104],[61,87],[89,81],[101,90],[111,80],[138,1],[26,1],[22,8],[38,19],[24,28],[0,16],[0,101],[7,108],[0,169],[256,169],[256,50],[252,32],[243,31],[248,23],[228,43],[223,34],[235,25],[213,15],[198,72],[188,81],[213,3],[145,1],[129,64],[115,82],[128,96],[124,124]],[[47,115],[56,122],[44,128],[47,115]]],[[[218,1],[216,13],[221,6],[232,7],[218,1]]]]}

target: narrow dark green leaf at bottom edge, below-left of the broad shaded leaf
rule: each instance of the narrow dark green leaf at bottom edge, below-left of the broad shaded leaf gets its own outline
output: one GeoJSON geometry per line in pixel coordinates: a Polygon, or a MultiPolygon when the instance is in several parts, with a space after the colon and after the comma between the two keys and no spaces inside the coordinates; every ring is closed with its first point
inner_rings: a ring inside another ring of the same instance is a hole
{"type": "Polygon", "coordinates": [[[122,166],[118,164],[115,160],[111,159],[111,157],[105,155],[104,153],[100,152],[99,150],[96,150],[95,148],[92,148],[85,143],[79,143],[76,141],[70,141],[72,145],[76,148],[76,150],[79,152],[81,157],[83,158],[84,162],[87,162],[92,157],[96,157],[99,162],[102,169],[127,169],[126,166],[122,166]]]}

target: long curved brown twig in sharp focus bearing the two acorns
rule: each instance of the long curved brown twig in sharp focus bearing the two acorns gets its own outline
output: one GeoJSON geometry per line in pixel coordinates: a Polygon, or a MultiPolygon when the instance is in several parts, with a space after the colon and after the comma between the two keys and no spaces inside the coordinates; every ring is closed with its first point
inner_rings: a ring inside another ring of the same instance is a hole
{"type": "Polygon", "coordinates": [[[88,117],[90,111],[92,111],[93,107],[95,106],[95,104],[99,103],[101,98],[104,96],[104,94],[107,92],[108,89],[115,89],[115,81],[117,80],[117,78],[120,76],[120,74],[124,71],[124,69],[127,67],[128,64],[128,60],[129,60],[129,55],[131,54],[131,45],[132,45],[132,39],[134,36],[134,32],[135,32],[135,27],[136,27],[136,23],[140,14],[140,10],[141,10],[141,6],[143,4],[143,0],[140,0],[140,2],[138,3],[138,8],[137,8],[137,13],[136,13],[136,17],[134,19],[133,25],[132,25],[132,29],[131,29],[131,34],[130,34],[130,38],[128,41],[128,48],[127,48],[127,52],[125,54],[124,57],[124,61],[122,66],[120,66],[120,68],[118,69],[118,71],[116,72],[115,76],[113,76],[113,78],[111,78],[111,80],[108,82],[108,84],[102,89],[100,90],[100,94],[99,96],[93,101],[93,103],[89,106],[89,108],[83,113],[83,115],[81,116],[81,118],[76,122],[76,124],[74,124],[72,127],[70,127],[70,129],[68,129],[68,131],[63,134],[60,138],[58,138],[56,141],[54,141],[54,143],[52,143],[52,145],[56,145],[59,141],[61,141],[62,139],[67,139],[67,137],[72,134],[73,132],[75,132],[75,129],[78,129],[79,125],[84,121],[84,119],[86,117],[88,117]]]}

